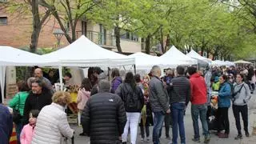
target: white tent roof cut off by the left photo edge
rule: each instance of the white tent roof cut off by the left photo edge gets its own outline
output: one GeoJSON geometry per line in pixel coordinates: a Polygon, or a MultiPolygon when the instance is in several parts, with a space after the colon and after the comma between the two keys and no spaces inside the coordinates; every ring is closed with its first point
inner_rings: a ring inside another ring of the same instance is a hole
{"type": "Polygon", "coordinates": [[[0,65],[2,66],[49,66],[53,62],[25,50],[10,46],[0,46],[0,65]]]}

